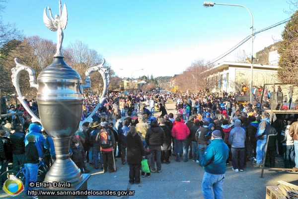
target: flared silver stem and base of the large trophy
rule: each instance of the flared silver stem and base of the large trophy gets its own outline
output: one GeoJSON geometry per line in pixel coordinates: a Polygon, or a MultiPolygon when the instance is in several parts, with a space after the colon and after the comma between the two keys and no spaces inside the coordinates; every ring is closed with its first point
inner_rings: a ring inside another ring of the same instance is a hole
{"type": "Polygon", "coordinates": [[[45,182],[68,182],[72,188],[78,185],[83,176],[78,167],[70,159],[71,137],[53,137],[56,153],[56,161],[45,177],[45,182]]]}

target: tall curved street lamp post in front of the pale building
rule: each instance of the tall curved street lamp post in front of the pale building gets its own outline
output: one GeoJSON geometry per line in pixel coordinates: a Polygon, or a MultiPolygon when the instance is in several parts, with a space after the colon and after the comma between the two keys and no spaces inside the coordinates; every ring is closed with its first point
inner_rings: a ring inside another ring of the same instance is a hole
{"type": "Polygon", "coordinates": [[[203,6],[204,7],[213,7],[214,5],[231,5],[231,6],[239,6],[239,7],[243,7],[245,8],[249,14],[250,14],[250,17],[251,17],[251,67],[250,67],[250,103],[252,103],[252,77],[253,77],[253,17],[252,17],[252,14],[251,12],[249,11],[249,9],[243,5],[237,5],[237,4],[227,4],[227,3],[215,3],[215,2],[212,2],[212,1],[205,1],[203,3],[203,6]]]}

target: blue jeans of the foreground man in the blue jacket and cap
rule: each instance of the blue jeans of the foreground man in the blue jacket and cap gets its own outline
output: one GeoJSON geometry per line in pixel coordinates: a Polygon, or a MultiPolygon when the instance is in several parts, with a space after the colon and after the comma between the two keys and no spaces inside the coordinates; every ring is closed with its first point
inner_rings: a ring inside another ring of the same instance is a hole
{"type": "Polygon", "coordinates": [[[202,181],[202,191],[205,199],[223,199],[223,184],[225,174],[210,174],[205,172],[202,181]],[[212,190],[214,192],[214,197],[212,190]]]}

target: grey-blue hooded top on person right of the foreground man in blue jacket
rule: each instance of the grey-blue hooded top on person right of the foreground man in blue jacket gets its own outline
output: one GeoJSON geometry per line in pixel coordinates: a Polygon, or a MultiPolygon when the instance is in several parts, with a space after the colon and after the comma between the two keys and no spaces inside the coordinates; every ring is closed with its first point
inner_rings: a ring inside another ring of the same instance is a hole
{"type": "Polygon", "coordinates": [[[241,127],[241,121],[239,119],[235,120],[235,127],[231,130],[228,137],[228,143],[233,148],[244,148],[246,139],[245,130],[241,127]]]}

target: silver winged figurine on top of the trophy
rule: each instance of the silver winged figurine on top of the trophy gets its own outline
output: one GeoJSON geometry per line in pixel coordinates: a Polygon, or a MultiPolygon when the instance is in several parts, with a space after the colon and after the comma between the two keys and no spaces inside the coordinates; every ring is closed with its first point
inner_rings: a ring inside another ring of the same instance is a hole
{"type": "Polygon", "coordinates": [[[61,47],[62,47],[62,42],[63,42],[63,30],[66,28],[67,25],[67,8],[66,4],[64,3],[63,5],[63,10],[61,11],[61,0],[59,1],[59,14],[55,15],[55,18],[52,15],[51,8],[48,7],[51,19],[47,15],[47,8],[44,10],[44,15],[43,15],[43,20],[46,26],[52,30],[52,31],[57,31],[57,52],[54,55],[54,57],[64,57],[61,53],[61,47]]]}

